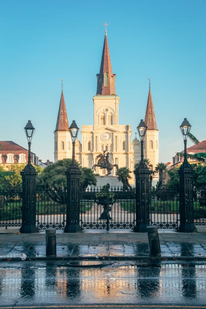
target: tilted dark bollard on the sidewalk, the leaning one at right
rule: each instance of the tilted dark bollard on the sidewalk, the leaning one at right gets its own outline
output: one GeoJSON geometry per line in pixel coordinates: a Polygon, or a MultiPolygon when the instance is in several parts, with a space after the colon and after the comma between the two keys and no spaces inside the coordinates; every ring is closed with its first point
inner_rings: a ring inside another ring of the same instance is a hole
{"type": "Polygon", "coordinates": [[[158,227],[156,225],[147,226],[147,236],[150,254],[153,256],[161,256],[158,227]]]}

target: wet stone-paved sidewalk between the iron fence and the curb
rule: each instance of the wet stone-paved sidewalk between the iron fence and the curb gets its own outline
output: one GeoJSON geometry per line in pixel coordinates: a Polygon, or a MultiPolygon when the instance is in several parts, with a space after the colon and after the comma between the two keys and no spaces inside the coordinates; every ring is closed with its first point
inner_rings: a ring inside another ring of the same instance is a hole
{"type": "MultiPolygon", "coordinates": [[[[206,260],[205,233],[159,231],[162,258],[197,257],[206,260]]],[[[0,234],[0,260],[27,257],[44,258],[45,231],[37,234],[0,234]]],[[[57,231],[57,257],[149,257],[147,233],[101,230],[66,234],[57,231]]]]}

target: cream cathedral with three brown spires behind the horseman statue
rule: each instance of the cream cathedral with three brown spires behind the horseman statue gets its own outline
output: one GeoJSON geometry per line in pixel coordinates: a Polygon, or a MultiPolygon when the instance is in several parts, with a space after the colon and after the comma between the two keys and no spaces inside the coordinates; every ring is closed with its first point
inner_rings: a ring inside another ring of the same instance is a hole
{"type": "MultiPolygon", "coordinates": [[[[93,97],[94,124],[82,125],[82,143],[76,139],[75,159],[82,167],[92,168],[97,164],[99,153],[109,152],[111,164],[119,167],[128,167],[134,170],[134,164],[141,158],[140,141],[134,138],[131,141],[130,125],[119,124],[120,97],[115,90],[116,74],[112,71],[107,31],[105,31],[102,60],[99,74],[97,74],[97,93],[93,97]]],[[[140,119],[137,121],[139,123],[140,119]]],[[[70,120],[71,122],[71,120],[70,120]]],[[[149,159],[150,168],[153,170],[159,162],[159,131],[155,120],[151,90],[145,112],[145,124],[147,131],[144,138],[144,157],[149,159]]],[[[57,116],[56,129],[54,131],[54,162],[72,157],[72,141],[69,134],[69,122],[66,112],[63,90],[57,116]]],[[[116,168],[111,171],[115,176],[116,168]]],[[[103,176],[106,169],[96,168],[96,173],[103,176]]],[[[131,183],[134,175],[131,173],[131,183]]]]}

